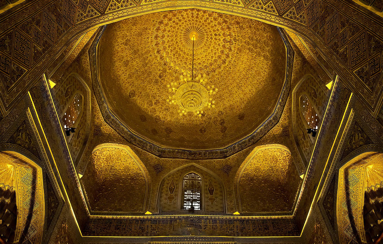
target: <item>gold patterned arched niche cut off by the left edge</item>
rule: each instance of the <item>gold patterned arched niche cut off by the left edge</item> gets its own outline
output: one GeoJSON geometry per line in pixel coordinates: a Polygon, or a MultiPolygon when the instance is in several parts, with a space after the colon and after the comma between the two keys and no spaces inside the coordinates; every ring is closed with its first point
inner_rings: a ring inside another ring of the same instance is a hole
{"type": "Polygon", "coordinates": [[[0,202],[0,236],[7,239],[3,241],[41,243],[45,206],[38,164],[18,152],[0,151],[0,202]]]}

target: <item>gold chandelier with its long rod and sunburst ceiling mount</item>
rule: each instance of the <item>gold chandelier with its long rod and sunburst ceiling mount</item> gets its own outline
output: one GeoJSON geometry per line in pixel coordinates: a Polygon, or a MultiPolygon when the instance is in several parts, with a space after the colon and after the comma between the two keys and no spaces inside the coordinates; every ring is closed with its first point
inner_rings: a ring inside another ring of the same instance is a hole
{"type": "Polygon", "coordinates": [[[187,46],[191,46],[192,61],[191,61],[191,77],[185,71],[180,75],[180,82],[172,82],[167,85],[170,92],[174,94],[169,96],[167,102],[176,103],[180,107],[180,115],[193,112],[199,117],[203,116],[205,111],[204,107],[215,107],[215,101],[210,97],[218,91],[218,88],[212,86],[205,86],[206,75],[198,75],[194,77],[194,47],[200,46],[205,41],[205,34],[198,27],[190,27],[183,33],[183,41],[187,46]]]}

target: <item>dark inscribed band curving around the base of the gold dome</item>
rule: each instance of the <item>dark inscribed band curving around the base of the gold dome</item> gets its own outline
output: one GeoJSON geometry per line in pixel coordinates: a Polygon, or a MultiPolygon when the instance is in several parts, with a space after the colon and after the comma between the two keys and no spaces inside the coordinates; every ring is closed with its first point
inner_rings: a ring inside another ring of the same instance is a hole
{"type": "Polygon", "coordinates": [[[286,105],[288,94],[290,92],[291,76],[293,71],[293,61],[294,61],[294,51],[288,41],[284,31],[277,27],[278,32],[280,33],[283,42],[286,46],[286,73],[285,73],[285,82],[283,84],[282,91],[280,93],[277,106],[273,113],[260,125],[253,133],[247,137],[242,138],[241,140],[226,146],[224,148],[211,149],[211,150],[187,150],[179,148],[166,148],[160,145],[157,145],[153,142],[149,142],[145,138],[142,138],[139,135],[133,133],[127,126],[121,123],[115,115],[111,112],[110,108],[107,105],[105,96],[103,94],[100,81],[98,78],[98,65],[97,65],[97,46],[100,38],[105,30],[106,26],[100,29],[97,33],[95,40],[92,43],[92,46],[89,49],[89,59],[90,59],[90,68],[92,73],[93,81],[93,90],[95,92],[96,100],[98,106],[100,107],[101,114],[105,122],[119,133],[124,139],[129,143],[141,148],[148,153],[151,153],[159,158],[181,158],[181,159],[223,159],[227,158],[239,151],[248,148],[249,146],[254,145],[258,140],[260,140],[265,134],[267,134],[275,125],[278,124],[283,108],[286,105]]]}

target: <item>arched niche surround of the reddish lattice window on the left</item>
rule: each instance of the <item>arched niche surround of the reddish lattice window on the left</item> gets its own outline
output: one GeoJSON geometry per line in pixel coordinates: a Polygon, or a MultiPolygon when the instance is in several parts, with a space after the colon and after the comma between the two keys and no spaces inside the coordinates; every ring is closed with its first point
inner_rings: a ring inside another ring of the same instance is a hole
{"type": "Polygon", "coordinates": [[[52,91],[55,106],[63,127],[65,127],[65,113],[70,112],[74,99],[77,99],[79,96],[80,99],[82,99],[81,110],[78,111],[77,118],[72,125],[72,127],[76,128],[75,133],[71,133],[66,137],[70,153],[75,159],[75,165],[77,165],[89,138],[91,112],[90,89],[79,74],[70,73],[59,81],[58,84],[52,88],[52,91]]]}

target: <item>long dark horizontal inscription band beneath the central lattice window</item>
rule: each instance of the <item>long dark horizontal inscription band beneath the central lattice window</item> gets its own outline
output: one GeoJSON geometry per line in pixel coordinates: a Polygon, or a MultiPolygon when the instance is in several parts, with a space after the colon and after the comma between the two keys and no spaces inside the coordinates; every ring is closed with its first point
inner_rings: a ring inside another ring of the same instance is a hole
{"type": "Polygon", "coordinates": [[[88,236],[297,236],[294,220],[230,220],[191,218],[93,219],[85,228],[88,236]]]}

